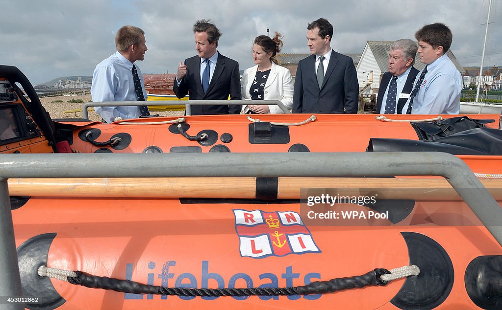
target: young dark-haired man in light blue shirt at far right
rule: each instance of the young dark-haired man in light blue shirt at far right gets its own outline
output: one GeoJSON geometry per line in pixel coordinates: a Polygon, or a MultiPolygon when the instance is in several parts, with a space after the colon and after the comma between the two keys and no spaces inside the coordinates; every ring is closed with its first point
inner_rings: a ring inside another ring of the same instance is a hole
{"type": "Polygon", "coordinates": [[[420,61],[426,64],[403,112],[407,114],[458,114],[462,76],[446,55],[453,35],[444,24],[426,25],[415,34],[420,61]]]}

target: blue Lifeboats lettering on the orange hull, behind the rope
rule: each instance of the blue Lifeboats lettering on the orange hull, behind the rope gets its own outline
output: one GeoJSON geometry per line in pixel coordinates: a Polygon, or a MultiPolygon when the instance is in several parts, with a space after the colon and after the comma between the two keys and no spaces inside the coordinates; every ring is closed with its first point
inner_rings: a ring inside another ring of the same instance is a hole
{"type": "MultiPolygon", "coordinates": [[[[177,261],[175,260],[169,260],[165,262],[162,265],[162,271],[161,273],[157,274],[157,278],[160,279],[161,285],[164,287],[169,287],[173,285],[173,280],[174,280],[174,287],[180,287],[180,288],[196,288],[200,287],[201,288],[208,288],[208,287],[215,287],[216,284],[218,288],[224,288],[225,283],[228,283],[227,287],[228,288],[235,288],[235,287],[255,287],[257,284],[260,283],[258,287],[273,287],[273,288],[278,288],[279,286],[281,287],[291,287],[295,285],[308,285],[312,283],[312,281],[317,281],[321,279],[321,274],[319,272],[310,272],[305,274],[303,276],[303,283],[304,284],[298,284],[294,283],[294,279],[300,278],[301,274],[298,272],[293,272],[293,266],[288,266],[286,267],[286,270],[284,273],[281,273],[280,277],[278,274],[275,273],[262,273],[258,275],[259,280],[253,279],[252,276],[249,274],[243,273],[243,272],[237,272],[234,275],[232,275],[229,279],[228,282],[225,281],[223,276],[219,273],[216,272],[209,272],[209,261],[208,260],[203,260],[202,261],[202,268],[201,268],[201,277],[200,277],[200,282],[198,281],[197,277],[190,272],[182,272],[180,274],[175,274],[174,271],[176,267],[179,267],[181,263],[177,265],[177,261]],[[177,275],[177,276],[176,276],[177,275]],[[176,278],[175,278],[176,276],[176,278]],[[279,280],[283,279],[282,281],[279,280]]],[[[151,261],[148,263],[148,269],[150,270],[155,270],[156,268],[156,263],[151,261]]],[[[135,269],[134,263],[127,263],[126,265],[126,279],[129,281],[133,281],[133,270],[135,269]]],[[[136,268],[137,270],[143,270],[143,268],[136,268]]],[[[155,282],[155,273],[154,272],[149,272],[146,276],[147,278],[147,283],[150,285],[158,285],[159,283],[154,283],[155,282]]],[[[144,281],[144,278],[135,278],[134,281],[142,282],[144,281]]],[[[124,293],[124,299],[154,299],[154,296],[152,294],[132,294],[132,293],[124,293]]],[[[245,300],[249,296],[232,296],[232,298],[236,300],[245,300]]],[[[291,296],[259,296],[260,299],[262,300],[269,300],[269,299],[279,299],[279,298],[288,298],[290,300],[296,300],[300,298],[304,298],[307,300],[315,300],[319,299],[321,297],[321,294],[314,294],[314,295],[291,295],[291,296]]],[[[157,298],[157,297],[155,297],[157,298]]],[[[178,296],[178,298],[181,299],[193,299],[195,296],[178,296]]],[[[219,297],[201,297],[202,299],[205,300],[214,300],[219,297]]],[[[228,298],[228,297],[222,297],[222,298],[228,298]]],[[[160,299],[168,299],[167,295],[162,295],[160,296],[160,299]]]]}

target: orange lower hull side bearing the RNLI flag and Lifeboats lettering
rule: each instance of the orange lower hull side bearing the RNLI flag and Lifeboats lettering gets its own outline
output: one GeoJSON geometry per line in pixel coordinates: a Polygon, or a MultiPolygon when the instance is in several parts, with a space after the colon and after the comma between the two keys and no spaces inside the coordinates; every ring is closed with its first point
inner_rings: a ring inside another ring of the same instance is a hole
{"type": "MultiPolygon", "coordinates": [[[[366,214],[370,210],[357,205],[346,207],[366,214]]],[[[464,288],[463,274],[467,266],[476,257],[502,254],[498,243],[476,222],[465,204],[455,201],[416,201],[410,215],[398,224],[375,219],[357,219],[359,224],[331,219],[322,225],[303,223],[296,228],[282,223],[272,229],[266,224],[246,227],[254,232],[241,229],[236,219],[237,211],[253,212],[255,216],[261,213],[264,217],[269,214],[276,217],[278,212],[284,212],[307,219],[297,203],[234,201],[228,204],[212,201],[207,204],[179,199],[36,197],[14,210],[13,217],[18,247],[23,242],[25,247],[30,247],[30,239],[35,236],[55,233],[53,240],[45,243],[50,267],[169,287],[287,287],[413,263],[422,265],[425,278],[434,271],[427,270],[421,255],[436,255],[434,242],[437,242],[447,253],[443,258],[451,259],[453,263],[452,274],[448,273],[446,279],[442,279],[447,282],[441,286],[445,290],[444,298],[438,300],[436,295],[429,295],[421,302],[438,303],[438,308],[454,304],[474,308],[475,304],[464,288]],[[438,226],[436,223],[440,222],[441,216],[444,217],[442,211],[445,208],[449,211],[456,209],[454,214],[448,214],[450,219],[456,220],[450,221],[450,225],[438,226]],[[289,241],[283,248],[277,244],[287,239],[279,236],[274,240],[277,230],[288,235],[289,241]],[[427,241],[417,246],[404,236],[406,233],[423,236],[427,241]],[[303,239],[304,248],[298,243],[295,245],[298,234],[310,238],[303,239]],[[251,235],[267,235],[276,243],[272,245],[273,253],[258,256],[265,250],[258,241],[255,247],[246,249],[244,236],[251,235]]],[[[37,247],[40,245],[32,245],[32,249],[37,247]]],[[[429,280],[428,285],[434,285],[437,278],[429,280]]],[[[396,300],[411,294],[402,291],[404,283],[405,280],[401,279],[385,287],[323,295],[212,299],[135,295],[52,280],[54,290],[65,300],[58,307],[61,309],[163,306],[301,309],[309,306],[327,308],[333,304],[345,309],[397,309],[399,303],[396,300]]]]}

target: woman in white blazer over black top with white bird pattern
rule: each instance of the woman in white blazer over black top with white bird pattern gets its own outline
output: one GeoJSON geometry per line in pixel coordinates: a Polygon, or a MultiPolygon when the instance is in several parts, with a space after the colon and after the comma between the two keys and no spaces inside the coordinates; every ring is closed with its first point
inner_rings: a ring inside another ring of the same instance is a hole
{"type": "MultiPolygon", "coordinates": [[[[280,100],[286,108],[293,106],[293,79],[288,69],[278,66],[276,54],[281,51],[281,34],[273,39],[259,36],[253,45],[253,60],[256,66],[244,70],[240,79],[240,93],[243,100],[280,100]]],[[[247,114],[284,113],[278,106],[243,105],[247,114]]]]}

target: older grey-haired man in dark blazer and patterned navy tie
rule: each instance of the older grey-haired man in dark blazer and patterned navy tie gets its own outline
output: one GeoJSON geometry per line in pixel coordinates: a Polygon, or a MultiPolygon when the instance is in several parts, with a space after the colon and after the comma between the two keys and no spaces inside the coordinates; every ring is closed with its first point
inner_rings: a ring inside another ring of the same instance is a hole
{"type": "Polygon", "coordinates": [[[403,107],[413,90],[413,82],[419,73],[413,67],[417,50],[417,44],[410,39],[392,43],[389,52],[389,71],[382,77],[376,98],[376,113],[402,114],[403,107]]]}

